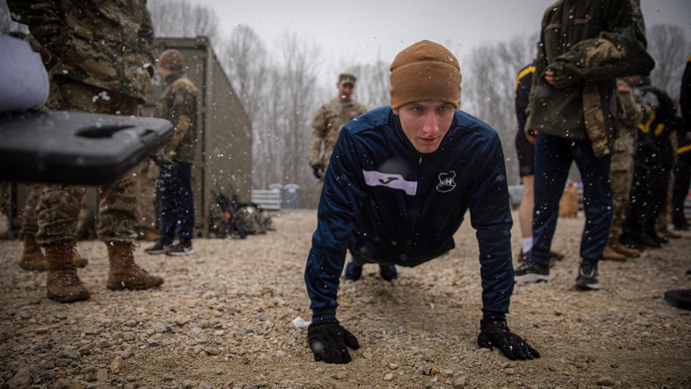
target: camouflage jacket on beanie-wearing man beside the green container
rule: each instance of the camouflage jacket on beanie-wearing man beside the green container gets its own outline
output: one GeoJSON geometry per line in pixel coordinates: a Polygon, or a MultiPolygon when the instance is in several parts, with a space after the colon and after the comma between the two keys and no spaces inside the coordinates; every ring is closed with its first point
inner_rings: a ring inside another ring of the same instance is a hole
{"type": "Polygon", "coordinates": [[[156,104],[156,116],[170,120],[175,133],[161,159],[193,164],[197,140],[197,88],[184,75],[184,70],[171,73],[165,83],[166,88],[156,104]]]}

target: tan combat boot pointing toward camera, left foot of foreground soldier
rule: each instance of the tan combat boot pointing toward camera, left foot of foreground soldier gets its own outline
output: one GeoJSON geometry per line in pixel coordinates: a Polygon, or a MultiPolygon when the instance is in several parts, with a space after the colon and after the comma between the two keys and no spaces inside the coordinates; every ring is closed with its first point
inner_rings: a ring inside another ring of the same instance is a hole
{"type": "Polygon", "coordinates": [[[77,268],[72,262],[74,243],[60,242],[46,246],[46,289],[48,298],[60,303],[73,303],[88,300],[88,289],[77,276],[77,268]]]}

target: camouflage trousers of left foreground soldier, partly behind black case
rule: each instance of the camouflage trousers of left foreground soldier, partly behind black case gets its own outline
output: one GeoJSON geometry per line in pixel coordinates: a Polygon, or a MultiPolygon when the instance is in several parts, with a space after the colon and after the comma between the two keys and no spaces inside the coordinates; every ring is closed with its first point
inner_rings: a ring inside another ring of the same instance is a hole
{"type": "MultiPolygon", "coordinates": [[[[70,79],[55,77],[50,84],[49,109],[57,111],[139,115],[138,99],[120,95],[70,79]]],[[[98,189],[97,236],[100,240],[132,242],[136,235],[140,167],[120,180],[98,189]]],[[[79,211],[84,207],[86,187],[64,184],[44,185],[37,207],[40,245],[77,238],[79,211]]]]}

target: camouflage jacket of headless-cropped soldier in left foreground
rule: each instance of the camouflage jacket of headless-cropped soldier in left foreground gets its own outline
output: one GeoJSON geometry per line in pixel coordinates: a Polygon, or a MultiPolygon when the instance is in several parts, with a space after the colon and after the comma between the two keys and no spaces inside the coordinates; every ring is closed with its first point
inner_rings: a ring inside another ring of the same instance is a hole
{"type": "Polygon", "coordinates": [[[145,101],[154,63],[146,0],[8,0],[8,6],[29,27],[49,75],[145,101]]]}

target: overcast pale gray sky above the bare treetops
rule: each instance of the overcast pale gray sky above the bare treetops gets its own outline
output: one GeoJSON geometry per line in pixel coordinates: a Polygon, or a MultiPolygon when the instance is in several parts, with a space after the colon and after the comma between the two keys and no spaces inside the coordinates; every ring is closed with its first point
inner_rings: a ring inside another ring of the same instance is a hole
{"type": "MultiPolygon", "coordinates": [[[[331,66],[393,60],[422,39],[459,57],[487,41],[537,33],[554,0],[196,0],[216,12],[223,36],[249,26],[267,48],[286,32],[314,41],[331,66]]],[[[647,26],[682,26],[691,37],[691,0],[641,0],[647,26]]],[[[689,53],[691,55],[691,53],[689,53]]]]}

